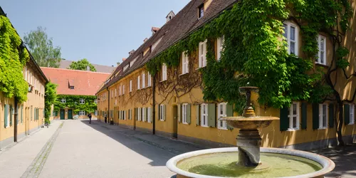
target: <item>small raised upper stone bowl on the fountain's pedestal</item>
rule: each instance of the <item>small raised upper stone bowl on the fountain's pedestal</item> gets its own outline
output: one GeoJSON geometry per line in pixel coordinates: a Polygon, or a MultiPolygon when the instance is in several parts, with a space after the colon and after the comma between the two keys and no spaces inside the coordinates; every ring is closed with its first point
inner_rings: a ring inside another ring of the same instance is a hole
{"type": "Polygon", "coordinates": [[[278,117],[256,116],[256,117],[222,117],[219,120],[226,120],[228,125],[234,128],[244,130],[254,130],[267,127],[273,120],[279,120],[278,117]]]}

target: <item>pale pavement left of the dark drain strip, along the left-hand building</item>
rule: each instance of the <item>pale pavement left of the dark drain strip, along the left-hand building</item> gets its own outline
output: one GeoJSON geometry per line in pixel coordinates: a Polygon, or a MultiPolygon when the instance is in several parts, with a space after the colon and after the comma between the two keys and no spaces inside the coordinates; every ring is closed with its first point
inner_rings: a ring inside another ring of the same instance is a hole
{"type": "Polygon", "coordinates": [[[13,147],[2,150],[0,177],[21,177],[60,125],[61,121],[53,121],[50,127],[41,128],[13,147]]]}

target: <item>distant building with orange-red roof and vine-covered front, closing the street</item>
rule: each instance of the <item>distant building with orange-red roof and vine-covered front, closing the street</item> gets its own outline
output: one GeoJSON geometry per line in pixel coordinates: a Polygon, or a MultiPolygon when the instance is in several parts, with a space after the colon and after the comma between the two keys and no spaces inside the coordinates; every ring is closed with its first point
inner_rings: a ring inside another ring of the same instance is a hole
{"type": "Polygon", "coordinates": [[[57,84],[58,103],[54,105],[55,119],[87,118],[88,112],[97,115],[95,93],[110,73],[63,68],[41,68],[48,80],[57,84]]]}

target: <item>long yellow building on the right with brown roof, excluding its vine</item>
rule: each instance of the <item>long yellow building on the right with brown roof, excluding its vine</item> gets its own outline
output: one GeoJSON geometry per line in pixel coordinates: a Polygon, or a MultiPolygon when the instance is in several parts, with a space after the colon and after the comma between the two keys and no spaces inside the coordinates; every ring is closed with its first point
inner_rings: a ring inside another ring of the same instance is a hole
{"type": "MultiPolygon", "coordinates": [[[[179,140],[195,142],[211,147],[224,147],[236,144],[239,130],[232,129],[219,117],[238,115],[232,106],[224,101],[207,103],[202,92],[201,72],[197,69],[206,66],[206,41],[199,43],[197,51],[179,53],[178,67],[169,68],[165,65],[159,73],[151,76],[147,72],[147,62],[156,58],[167,48],[184,40],[204,24],[214,19],[222,11],[231,9],[236,1],[193,0],[177,15],[169,13],[167,23],[158,31],[152,31],[136,51],[123,61],[98,90],[99,120],[135,130],[152,132],[153,134],[173,137],[179,140]]],[[[352,3],[352,10],[355,9],[352,3]]],[[[355,16],[351,18],[355,22],[355,16]]],[[[350,66],[345,68],[347,76],[356,75],[355,45],[356,23],[350,23],[350,31],[342,41],[350,50],[347,61],[350,66]]],[[[302,34],[297,21],[283,21],[288,41],[288,53],[305,56],[302,51],[302,34]],[[292,48],[292,44],[295,48],[292,48]]],[[[320,32],[318,39],[318,60],[314,68],[323,67],[327,70],[332,64],[333,45],[330,38],[320,32]]],[[[223,50],[224,36],[214,39],[216,60],[219,61],[223,50]]],[[[335,64],[334,64],[335,65],[335,64]]],[[[345,142],[355,142],[355,95],[356,79],[342,78],[343,70],[337,71],[337,92],[345,101],[342,135],[345,142]],[[351,101],[349,101],[351,100],[351,101]]],[[[295,101],[288,108],[265,108],[256,102],[258,95],[253,95],[256,115],[272,115],[280,117],[269,127],[261,130],[263,147],[287,147],[310,150],[336,145],[336,105],[332,102],[306,103],[295,101]]]]}

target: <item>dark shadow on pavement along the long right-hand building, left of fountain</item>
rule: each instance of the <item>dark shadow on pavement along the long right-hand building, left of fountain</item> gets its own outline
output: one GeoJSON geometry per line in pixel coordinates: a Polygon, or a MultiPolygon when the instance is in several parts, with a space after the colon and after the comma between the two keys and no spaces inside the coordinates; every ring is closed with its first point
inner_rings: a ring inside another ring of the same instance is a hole
{"type": "Polygon", "coordinates": [[[120,142],[122,145],[125,145],[125,147],[130,148],[130,150],[151,159],[152,162],[150,162],[150,165],[152,166],[165,166],[168,159],[175,155],[205,148],[187,142],[171,140],[167,137],[160,137],[146,132],[119,127],[117,125],[108,125],[98,120],[92,120],[91,124],[89,124],[89,120],[80,121],[117,142],[120,142]],[[147,147],[137,145],[137,141],[153,146],[153,149],[149,151],[147,147]],[[152,150],[154,151],[152,152],[152,150]],[[163,153],[164,151],[166,151],[166,153],[163,153]]]}

